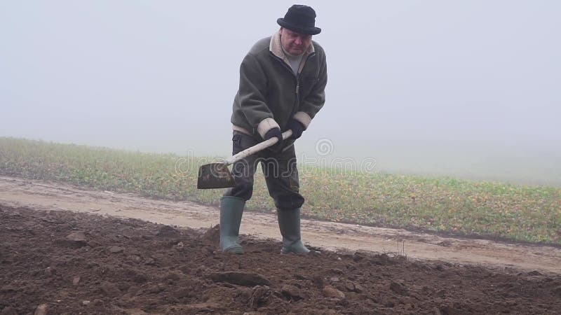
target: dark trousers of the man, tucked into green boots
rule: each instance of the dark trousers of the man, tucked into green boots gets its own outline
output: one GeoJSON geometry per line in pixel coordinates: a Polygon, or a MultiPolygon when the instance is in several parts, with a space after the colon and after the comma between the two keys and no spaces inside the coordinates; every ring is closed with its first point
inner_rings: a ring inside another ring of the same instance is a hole
{"type": "MultiPolygon", "coordinates": [[[[232,137],[232,154],[255,146],[259,141],[253,137],[234,131],[232,137]]],[[[253,177],[257,165],[261,164],[269,195],[273,197],[275,206],[279,210],[292,210],[302,207],[304,197],[299,194],[298,169],[294,146],[286,148],[281,153],[274,153],[265,149],[232,165],[232,174],[236,181],[234,188],[229,188],[224,196],[240,197],[250,200],[253,193],[253,177]]]]}

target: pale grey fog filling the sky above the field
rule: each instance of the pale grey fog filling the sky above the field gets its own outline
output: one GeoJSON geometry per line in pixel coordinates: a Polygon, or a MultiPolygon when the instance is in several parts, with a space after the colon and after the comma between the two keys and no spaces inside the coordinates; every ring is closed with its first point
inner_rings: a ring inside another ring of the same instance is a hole
{"type": "MultiPolygon", "coordinates": [[[[241,59],[292,1],[1,1],[0,137],[221,155],[241,59]]],[[[561,185],[561,2],[307,1],[325,106],[298,155],[561,185]]]]}

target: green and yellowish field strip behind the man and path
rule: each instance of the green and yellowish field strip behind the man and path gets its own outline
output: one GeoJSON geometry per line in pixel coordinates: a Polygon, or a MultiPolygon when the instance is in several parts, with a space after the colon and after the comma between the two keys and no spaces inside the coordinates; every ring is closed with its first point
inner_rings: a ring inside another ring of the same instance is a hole
{"type": "MultiPolygon", "coordinates": [[[[0,137],[2,175],[217,205],[222,190],[196,189],[198,165],[212,160],[0,137]]],[[[561,244],[561,188],[310,166],[299,174],[310,218],[561,244]]],[[[248,209],[274,209],[260,174],[248,209]]]]}

